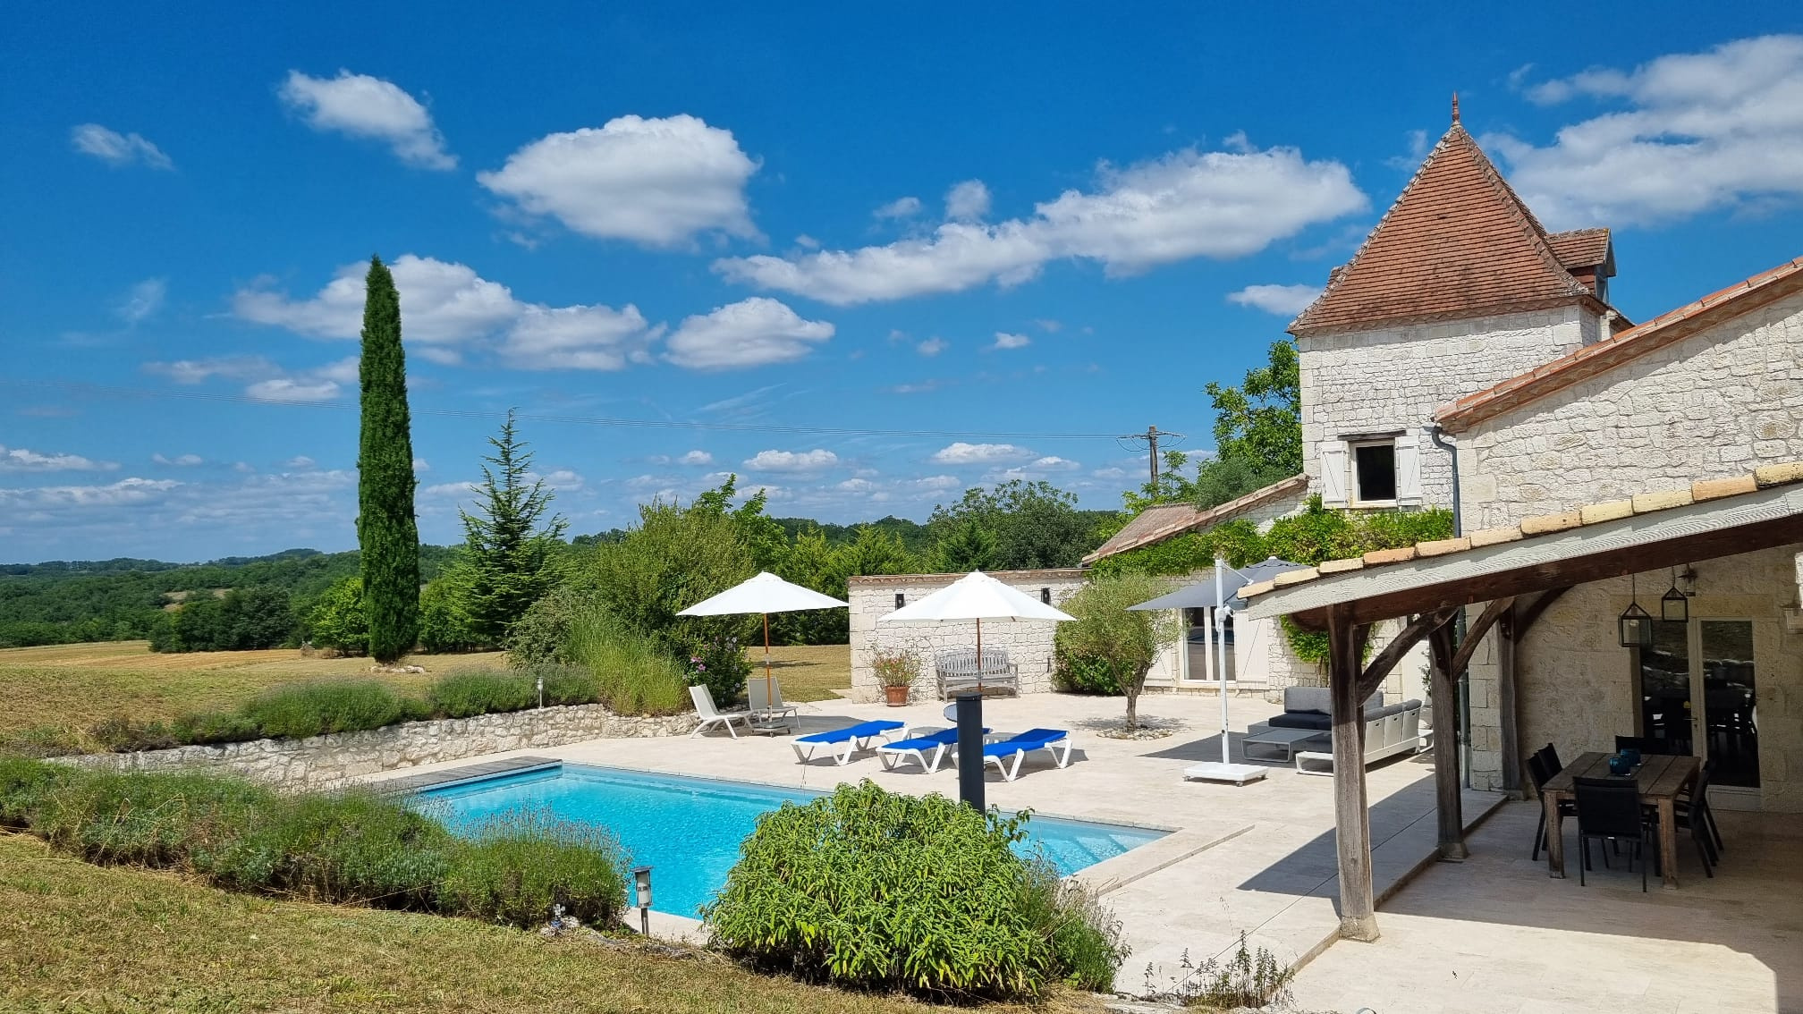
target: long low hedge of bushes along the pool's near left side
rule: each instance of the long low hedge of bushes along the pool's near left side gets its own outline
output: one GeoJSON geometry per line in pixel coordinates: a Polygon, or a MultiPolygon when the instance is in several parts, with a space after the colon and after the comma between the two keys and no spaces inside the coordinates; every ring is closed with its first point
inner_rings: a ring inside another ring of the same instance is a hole
{"type": "Polygon", "coordinates": [[[180,870],[220,888],[537,926],[626,904],[602,830],[534,814],[469,839],[373,792],[276,796],[211,774],[105,772],[0,756],[0,826],[94,862],[180,870]]]}

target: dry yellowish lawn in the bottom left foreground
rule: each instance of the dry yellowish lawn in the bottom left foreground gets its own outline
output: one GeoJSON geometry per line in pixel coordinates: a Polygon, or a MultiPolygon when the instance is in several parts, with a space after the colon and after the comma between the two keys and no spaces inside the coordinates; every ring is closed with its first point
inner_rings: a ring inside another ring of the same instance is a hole
{"type": "MultiPolygon", "coordinates": [[[[0,1009],[920,1014],[936,1007],[462,918],[231,895],[0,834],[0,1009]]],[[[990,1012],[1024,1009],[992,1007],[990,1012]]],[[[1096,1014],[1064,994],[1046,1014],[1096,1014]]]]}

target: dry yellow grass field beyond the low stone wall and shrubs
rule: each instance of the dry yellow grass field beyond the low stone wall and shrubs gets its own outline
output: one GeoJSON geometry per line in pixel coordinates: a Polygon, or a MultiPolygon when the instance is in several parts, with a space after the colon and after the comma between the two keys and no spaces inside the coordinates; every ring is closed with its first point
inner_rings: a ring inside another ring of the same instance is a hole
{"type": "MultiPolygon", "coordinates": [[[[788,700],[829,700],[851,686],[851,650],[844,644],[772,648],[772,673],[788,700]]],[[[763,648],[752,651],[763,671],[763,648]]],[[[87,729],[124,716],[169,722],[197,711],[231,711],[272,686],[379,678],[406,693],[435,678],[476,668],[501,668],[501,651],[418,655],[407,664],[426,673],[370,673],[368,659],[303,659],[294,648],[269,651],[197,651],[159,655],[144,641],[56,644],[0,650],[0,736],[23,729],[87,729]]]]}

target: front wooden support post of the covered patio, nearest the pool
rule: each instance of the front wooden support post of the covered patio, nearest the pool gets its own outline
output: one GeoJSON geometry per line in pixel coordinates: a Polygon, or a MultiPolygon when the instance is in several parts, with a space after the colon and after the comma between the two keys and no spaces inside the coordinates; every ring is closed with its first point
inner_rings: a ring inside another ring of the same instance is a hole
{"type": "Polygon", "coordinates": [[[1377,938],[1370,886],[1370,814],[1365,805],[1365,702],[1358,696],[1363,628],[1327,612],[1327,687],[1334,733],[1334,843],[1340,850],[1340,936],[1377,938]]]}

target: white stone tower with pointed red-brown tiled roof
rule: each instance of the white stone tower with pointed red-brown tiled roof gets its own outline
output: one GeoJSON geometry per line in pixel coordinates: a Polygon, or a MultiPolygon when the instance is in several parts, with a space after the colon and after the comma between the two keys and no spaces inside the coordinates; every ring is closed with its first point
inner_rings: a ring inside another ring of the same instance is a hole
{"type": "Polygon", "coordinates": [[[1451,503],[1433,411],[1605,337],[1608,229],[1547,233],[1459,123],[1289,325],[1309,485],[1331,507],[1451,503]]]}

